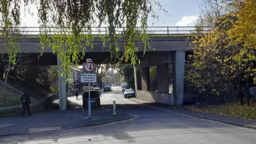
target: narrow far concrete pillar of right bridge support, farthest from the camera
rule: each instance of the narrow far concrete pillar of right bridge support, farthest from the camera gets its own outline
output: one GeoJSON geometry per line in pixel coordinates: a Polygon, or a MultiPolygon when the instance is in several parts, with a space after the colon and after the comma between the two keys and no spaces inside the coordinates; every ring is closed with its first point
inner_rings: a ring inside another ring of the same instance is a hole
{"type": "Polygon", "coordinates": [[[141,87],[142,91],[150,91],[150,77],[149,77],[149,67],[141,69],[141,87]]]}

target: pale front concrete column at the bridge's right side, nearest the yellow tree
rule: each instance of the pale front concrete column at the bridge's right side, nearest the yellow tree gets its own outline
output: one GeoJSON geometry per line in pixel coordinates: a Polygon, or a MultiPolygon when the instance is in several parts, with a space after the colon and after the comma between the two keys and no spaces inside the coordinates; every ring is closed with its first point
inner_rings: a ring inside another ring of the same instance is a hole
{"type": "Polygon", "coordinates": [[[183,105],[185,51],[175,51],[172,55],[173,96],[175,105],[183,105]]]}

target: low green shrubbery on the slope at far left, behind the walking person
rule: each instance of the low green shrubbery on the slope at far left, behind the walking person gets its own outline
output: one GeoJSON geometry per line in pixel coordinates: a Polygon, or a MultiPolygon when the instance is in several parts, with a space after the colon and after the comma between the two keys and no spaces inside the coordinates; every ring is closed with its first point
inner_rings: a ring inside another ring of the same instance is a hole
{"type": "Polygon", "coordinates": [[[10,89],[6,89],[5,92],[3,92],[3,85],[0,84],[0,107],[20,105],[20,97],[21,93],[11,91],[10,89]]]}

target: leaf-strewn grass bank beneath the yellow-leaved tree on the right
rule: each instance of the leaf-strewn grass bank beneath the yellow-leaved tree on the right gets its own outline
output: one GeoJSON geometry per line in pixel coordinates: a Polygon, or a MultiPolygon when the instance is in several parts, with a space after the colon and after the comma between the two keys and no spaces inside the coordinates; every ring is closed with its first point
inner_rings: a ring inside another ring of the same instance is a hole
{"type": "Polygon", "coordinates": [[[240,117],[245,119],[254,119],[256,120],[256,107],[240,105],[239,103],[230,103],[226,105],[209,105],[209,106],[200,106],[192,105],[185,106],[186,108],[196,111],[198,113],[209,113],[217,115],[225,115],[231,117],[240,117]]]}

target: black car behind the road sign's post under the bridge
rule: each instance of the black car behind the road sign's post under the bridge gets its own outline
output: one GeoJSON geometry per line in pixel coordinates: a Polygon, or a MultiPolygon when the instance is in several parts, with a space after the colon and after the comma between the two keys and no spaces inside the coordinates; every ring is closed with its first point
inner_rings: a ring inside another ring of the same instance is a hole
{"type": "MultiPolygon", "coordinates": [[[[100,95],[99,92],[96,90],[90,91],[91,95],[91,106],[98,106],[100,107],[100,95]]],[[[88,106],[89,100],[89,91],[85,91],[83,94],[83,107],[88,106]]]]}

